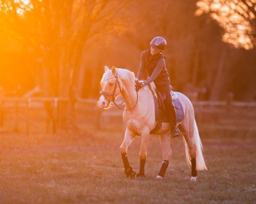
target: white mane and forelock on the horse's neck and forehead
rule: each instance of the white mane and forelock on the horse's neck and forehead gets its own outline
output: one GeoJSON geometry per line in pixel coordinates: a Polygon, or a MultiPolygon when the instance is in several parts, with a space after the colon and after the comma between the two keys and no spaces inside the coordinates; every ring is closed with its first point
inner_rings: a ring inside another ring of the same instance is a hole
{"type": "MultiPolygon", "coordinates": [[[[116,68],[116,72],[117,72],[117,77],[119,79],[125,80],[127,82],[134,82],[135,80],[135,75],[133,72],[129,71],[128,69],[121,69],[121,68],[116,68]]],[[[105,79],[114,77],[112,74],[111,70],[106,71],[103,76],[102,79],[100,81],[100,84],[102,85],[105,79]]]]}

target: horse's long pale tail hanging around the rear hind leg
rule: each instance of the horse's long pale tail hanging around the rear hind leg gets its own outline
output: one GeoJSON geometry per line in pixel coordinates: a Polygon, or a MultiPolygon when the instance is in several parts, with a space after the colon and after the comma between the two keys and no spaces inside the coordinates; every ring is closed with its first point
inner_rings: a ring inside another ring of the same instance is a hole
{"type": "MultiPolygon", "coordinates": [[[[189,155],[189,148],[188,144],[186,143],[185,138],[183,137],[184,144],[185,144],[185,151],[186,151],[186,161],[189,165],[189,168],[191,168],[191,157],[189,155]]],[[[204,156],[203,156],[203,145],[201,142],[201,139],[199,137],[198,133],[198,127],[196,125],[195,119],[194,119],[194,145],[196,149],[196,170],[203,171],[207,170],[207,167],[205,165],[204,156]]]]}

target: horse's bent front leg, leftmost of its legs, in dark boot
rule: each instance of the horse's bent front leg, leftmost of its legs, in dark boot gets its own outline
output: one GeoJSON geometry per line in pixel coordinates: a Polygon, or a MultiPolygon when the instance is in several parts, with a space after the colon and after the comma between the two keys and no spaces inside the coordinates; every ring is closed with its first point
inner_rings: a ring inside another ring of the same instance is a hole
{"type": "Polygon", "coordinates": [[[129,145],[131,144],[132,140],[134,139],[134,137],[136,136],[136,134],[129,130],[128,127],[126,127],[125,130],[125,138],[124,141],[122,142],[121,146],[120,146],[120,152],[122,155],[122,161],[124,163],[124,167],[125,167],[125,174],[127,177],[135,177],[136,175],[136,171],[130,166],[129,161],[128,161],[128,157],[127,157],[127,149],[129,147],[129,145]]]}

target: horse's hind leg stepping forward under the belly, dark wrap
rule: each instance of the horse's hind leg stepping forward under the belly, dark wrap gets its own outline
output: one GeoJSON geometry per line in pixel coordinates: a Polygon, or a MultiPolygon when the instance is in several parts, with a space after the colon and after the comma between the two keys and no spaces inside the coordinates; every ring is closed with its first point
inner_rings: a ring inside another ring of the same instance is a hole
{"type": "Polygon", "coordinates": [[[163,135],[160,135],[160,144],[163,150],[163,163],[157,178],[164,177],[166,173],[166,169],[169,165],[169,161],[171,160],[172,150],[170,147],[170,136],[171,136],[170,133],[165,133],[163,135]]]}

